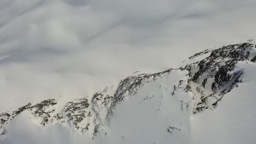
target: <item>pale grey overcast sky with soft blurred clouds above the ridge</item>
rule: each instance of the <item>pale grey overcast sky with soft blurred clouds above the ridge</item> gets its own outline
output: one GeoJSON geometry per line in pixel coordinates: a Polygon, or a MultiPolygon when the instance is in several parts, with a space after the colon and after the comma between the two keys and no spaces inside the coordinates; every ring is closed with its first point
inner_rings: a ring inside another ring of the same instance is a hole
{"type": "Polygon", "coordinates": [[[1,0],[0,112],[256,39],[254,0],[1,0]]]}

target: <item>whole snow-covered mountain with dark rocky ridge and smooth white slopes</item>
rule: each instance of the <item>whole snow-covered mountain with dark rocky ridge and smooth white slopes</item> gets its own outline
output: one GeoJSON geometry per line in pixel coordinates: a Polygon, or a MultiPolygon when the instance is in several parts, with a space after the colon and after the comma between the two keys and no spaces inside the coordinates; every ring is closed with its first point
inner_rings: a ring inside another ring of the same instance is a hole
{"type": "Polygon", "coordinates": [[[256,143],[256,46],[205,50],[91,97],[0,113],[0,143],[256,143]]]}

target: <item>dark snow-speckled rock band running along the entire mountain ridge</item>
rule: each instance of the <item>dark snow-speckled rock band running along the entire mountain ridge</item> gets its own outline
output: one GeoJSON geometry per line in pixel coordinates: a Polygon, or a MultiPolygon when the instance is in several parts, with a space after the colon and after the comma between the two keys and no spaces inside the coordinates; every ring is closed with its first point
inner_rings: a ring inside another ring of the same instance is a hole
{"type": "MultiPolygon", "coordinates": [[[[0,136],[5,134],[5,127],[11,120],[20,113],[27,111],[42,126],[49,123],[61,124],[63,127],[73,127],[82,133],[88,133],[88,130],[92,129],[91,135],[94,139],[97,133],[103,130],[104,125],[108,125],[114,110],[122,100],[133,97],[140,87],[161,79],[173,71],[177,73],[186,71],[188,79],[180,80],[179,83],[171,86],[173,88],[170,93],[171,96],[174,97],[178,89],[184,93],[191,92],[194,99],[192,113],[204,109],[213,110],[226,93],[237,86],[238,82],[242,82],[244,70],[237,67],[237,64],[240,62],[255,62],[256,49],[252,43],[229,45],[217,50],[205,50],[196,53],[189,57],[189,60],[199,58],[202,55],[208,55],[208,57],[178,69],[127,77],[120,81],[117,88],[114,86],[106,87],[102,92],[95,93],[91,99],[86,97],[69,101],[61,111],[56,110],[57,101],[49,99],[36,105],[29,103],[13,112],[1,113],[0,136]],[[184,83],[187,86],[184,86],[184,83]]],[[[161,88],[161,85],[159,87],[161,88]]],[[[144,99],[151,99],[152,97],[147,96],[144,99]]],[[[181,100],[181,110],[188,111],[190,103],[190,101],[181,100]]],[[[176,130],[181,129],[167,127],[169,133],[176,130]]]]}

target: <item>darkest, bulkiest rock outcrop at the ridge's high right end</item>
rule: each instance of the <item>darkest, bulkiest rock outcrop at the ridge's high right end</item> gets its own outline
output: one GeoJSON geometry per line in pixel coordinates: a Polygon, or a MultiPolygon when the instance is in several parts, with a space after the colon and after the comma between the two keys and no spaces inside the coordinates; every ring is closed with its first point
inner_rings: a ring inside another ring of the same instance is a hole
{"type": "MultiPolygon", "coordinates": [[[[203,54],[209,52],[210,56],[182,68],[190,73],[188,89],[194,92],[196,98],[193,113],[214,109],[224,94],[242,81],[243,69],[236,68],[236,64],[241,61],[253,62],[256,55],[255,45],[251,43],[223,46],[204,51],[203,54]]],[[[199,55],[190,58],[196,56],[199,55]]]]}

